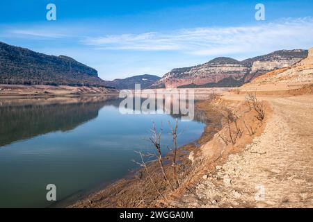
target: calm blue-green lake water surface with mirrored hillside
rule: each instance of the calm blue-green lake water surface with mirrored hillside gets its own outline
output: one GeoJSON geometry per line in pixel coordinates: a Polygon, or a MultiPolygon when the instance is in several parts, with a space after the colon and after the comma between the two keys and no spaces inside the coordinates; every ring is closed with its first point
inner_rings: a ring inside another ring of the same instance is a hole
{"type": "MultiPolygon", "coordinates": [[[[152,121],[163,123],[163,147],[171,144],[174,117],[120,114],[119,102],[0,103],[0,207],[49,207],[48,184],[64,200],[126,176],[137,167],[134,151],[152,148],[144,139],[152,121]]],[[[179,145],[198,139],[203,128],[201,121],[179,121],[179,145]]]]}

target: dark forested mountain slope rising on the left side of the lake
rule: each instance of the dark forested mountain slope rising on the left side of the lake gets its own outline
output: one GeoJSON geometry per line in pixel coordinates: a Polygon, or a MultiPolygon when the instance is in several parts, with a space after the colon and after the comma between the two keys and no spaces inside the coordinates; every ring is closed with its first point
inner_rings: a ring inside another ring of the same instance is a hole
{"type": "Polygon", "coordinates": [[[97,70],[67,56],[48,56],[0,42],[0,83],[107,87],[97,70]]]}

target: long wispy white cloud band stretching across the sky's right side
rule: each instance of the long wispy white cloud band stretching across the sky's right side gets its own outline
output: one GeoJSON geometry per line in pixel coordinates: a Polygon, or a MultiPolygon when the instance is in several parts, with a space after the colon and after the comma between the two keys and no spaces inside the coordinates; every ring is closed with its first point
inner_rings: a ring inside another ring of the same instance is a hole
{"type": "Polygon", "coordinates": [[[87,37],[83,44],[104,50],[184,51],[199,56],[230,55],[313,46],[313,19],[223,28],[188,28],[168,33],[87,37]]]}

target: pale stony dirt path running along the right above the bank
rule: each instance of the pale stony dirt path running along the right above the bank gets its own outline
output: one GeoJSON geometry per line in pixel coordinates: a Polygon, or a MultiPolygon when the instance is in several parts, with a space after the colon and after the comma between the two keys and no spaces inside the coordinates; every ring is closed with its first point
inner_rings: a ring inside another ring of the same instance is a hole
{"type": "Polygon", "coordinates": [[[266,101],[273,115],[264,133],[176,207],[313,207],[313,96],[266,101]]]}

